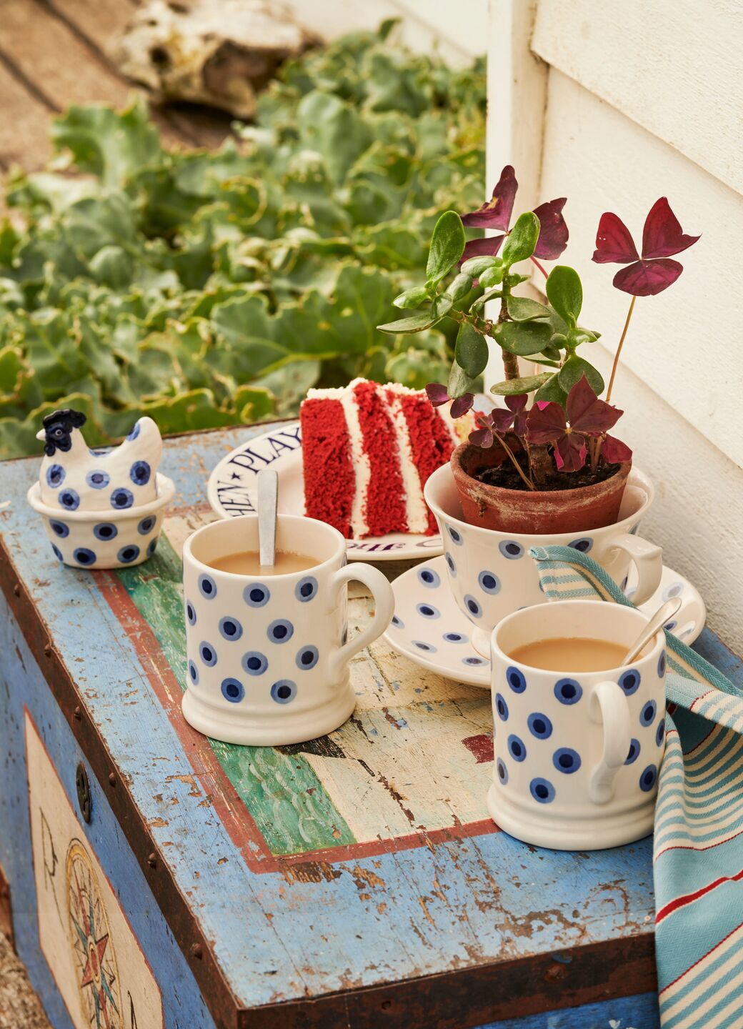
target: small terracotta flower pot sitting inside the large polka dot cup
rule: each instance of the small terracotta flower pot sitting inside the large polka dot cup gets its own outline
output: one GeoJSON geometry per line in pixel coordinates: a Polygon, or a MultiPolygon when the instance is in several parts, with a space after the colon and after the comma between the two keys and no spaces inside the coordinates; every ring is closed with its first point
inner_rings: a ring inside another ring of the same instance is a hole
{"type": "Polygon", "coordinates": [[[587,532],[611,525],[620,513],[631,461],[603,483],[574,490],[505,490],[487,486],[476,475],[494,461],[491,452],[462,443],[452,454],[452,470],[470,525],[501,532],[587,532]]]}

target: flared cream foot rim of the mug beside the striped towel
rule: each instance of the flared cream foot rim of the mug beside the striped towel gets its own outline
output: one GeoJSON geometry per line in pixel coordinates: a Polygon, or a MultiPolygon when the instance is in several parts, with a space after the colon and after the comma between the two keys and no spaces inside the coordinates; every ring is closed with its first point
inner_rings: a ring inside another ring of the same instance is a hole
{"type": "Polygon", "coordinates": [[[653,829],[656,797],[641,808],[612,812],[601,817],[597,805],[596,818],[561,817],[559,820],[539,818],[504,797],[503,790],[493,783],[488,790],[488,811],[498,828],[522,843],[551,850],[608,850],[636,843],[653,829]]]}

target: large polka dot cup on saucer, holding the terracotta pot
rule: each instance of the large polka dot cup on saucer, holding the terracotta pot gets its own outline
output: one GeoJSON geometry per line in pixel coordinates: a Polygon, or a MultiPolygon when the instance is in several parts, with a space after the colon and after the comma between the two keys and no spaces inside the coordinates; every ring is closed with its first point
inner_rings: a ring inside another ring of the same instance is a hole
{"type": "Polygon", "coordinates": [[[490,655],[490,634],[501,618],[546,601],[529,557],[532,546],[560,544],[590,554],[623,588],[634,562],[638,574],[632,595],[635,604],[643,603],[660,586],[663,552],[635,535],[653,496],[649,478],[636,468],[630,472],[618,521],[586,533],[508,534],[469,525],[462,517],[448,464],[430,475],[424,493],[441,532],[449,586],[460,610],[474,626],[472,645],[484,658],[490,655]]]}

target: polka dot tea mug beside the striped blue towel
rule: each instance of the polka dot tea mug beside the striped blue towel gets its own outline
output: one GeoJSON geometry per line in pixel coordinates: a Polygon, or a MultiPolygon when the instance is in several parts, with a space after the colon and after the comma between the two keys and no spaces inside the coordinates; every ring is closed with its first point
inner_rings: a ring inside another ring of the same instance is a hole
{"type": "Polygon", "coordinates": [[[604,601],[554,601],[503,618],[491,638],[493,820],[525,843],[596,850],[652,831],[665,747],[666,638],[611,671],[531,668],[538,640],[610,640],[628,650],[647,618],[604,601]]]}

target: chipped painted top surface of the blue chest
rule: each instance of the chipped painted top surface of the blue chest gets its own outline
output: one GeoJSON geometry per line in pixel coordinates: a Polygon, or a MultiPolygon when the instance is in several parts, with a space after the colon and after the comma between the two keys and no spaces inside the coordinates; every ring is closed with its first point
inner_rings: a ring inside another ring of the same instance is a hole
{"type": "MultiPolygon", "coordinates": [[[[176,547],[205,514],[203,503],[190,508],[184,500],[204,496],[208,470],[250,431],[166,443],[163,468],[181,496],[168,526],[176,547]]],[[[383,646],[355,661],[353,719],[315,747],[278,754],[284,768],[302,764],[307,797],[324,805],[322,824],[304,823],[296,809],[290,824],[283,808],[272,821],[274,802],[258,803],[252,783],[242,795],[232,783],[248,748],[227,776],[211,749],[206,760],[197,734],[184,740],[176,730],[181,690],[167,659],[168,646],[177,645],[172,619],[170,629],[168,619],[161,626],[163,642],[150,626],[147,639],[157,646],[142,650],[135,638],[142,612],[133,602],[135,620],[122,625],[106,593],[113,576],[56,564],[23,500],[36,470],[34,461],[0,466],[0,492],[13,500],[0,512],[5,544],[242,1004],[651,933],[647,841],[570,854],[494,831],[483,795],[487,694],[424,675],[383,646]],[[328,821],[331,809],[339,819],[328,821]],[[255,831],[240,836],[251,820],[255,831]],[[297,848],[305,837],[309,846],[297,848]]],[[[177,591],[151,596],[180,603],[177,591]]],[[[361,618],[365,601],[352,604],[361,618]]],[[[12,651],[3,662],[10,679],[12,651]]],[[[273,788],[276,768],[267,759],[260,774],[273,788]]],[[[601,984],[596,990],[600,995],[601,984]]]]}

